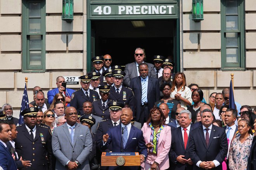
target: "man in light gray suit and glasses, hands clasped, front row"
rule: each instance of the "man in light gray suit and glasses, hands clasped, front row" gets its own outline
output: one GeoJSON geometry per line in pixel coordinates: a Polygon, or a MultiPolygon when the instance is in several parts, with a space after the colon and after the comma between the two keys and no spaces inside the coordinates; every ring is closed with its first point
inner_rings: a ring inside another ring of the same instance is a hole
{"type": "Polygon", "coordinates": [[[78,113],[74,107],[65,110],[67,122],[54,129],[52,151],[57,158],[55,170],[88,170],[92,152],[92,135],[87,126],[76,123],[78,113]]]}

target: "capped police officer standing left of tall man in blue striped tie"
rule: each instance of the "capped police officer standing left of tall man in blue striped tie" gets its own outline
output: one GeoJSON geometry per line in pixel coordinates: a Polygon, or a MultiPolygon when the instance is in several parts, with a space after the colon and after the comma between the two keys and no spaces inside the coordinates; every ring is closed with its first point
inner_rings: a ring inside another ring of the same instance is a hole
{"type": "Polygon", "coordinates": [[[114,86],[110,88],[109,99],[122,102],[124,105],[128,104],[131,110],[135,112],[133,91],[130,88],[122,85],[125,72],[116,70],[114,71],[113,76],[114,86]]]}

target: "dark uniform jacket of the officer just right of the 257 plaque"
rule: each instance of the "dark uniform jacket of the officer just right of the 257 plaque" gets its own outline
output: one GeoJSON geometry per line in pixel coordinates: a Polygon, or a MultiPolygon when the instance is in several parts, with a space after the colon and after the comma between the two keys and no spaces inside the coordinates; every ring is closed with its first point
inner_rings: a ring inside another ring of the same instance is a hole
{"type": "Polygon", "coordinates": [[[86,97],[85,93],[83,92],[82,88],[75,91],[71,96],[70,106],[76,108],[78,114],[83,115],[83,103],[86,101],[93,102],[95,100],[99,100],[99,94],[94,90],[90,89],[89,98],[86,97]]]}

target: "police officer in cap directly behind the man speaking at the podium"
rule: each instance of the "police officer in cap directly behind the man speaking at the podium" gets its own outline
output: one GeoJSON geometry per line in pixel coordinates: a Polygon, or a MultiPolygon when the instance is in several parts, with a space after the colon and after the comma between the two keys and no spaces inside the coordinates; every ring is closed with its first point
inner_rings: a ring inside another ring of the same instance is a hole
{"type": "MultiPolygon", "coordinates": [[[[102,136],[107,133],[109,128],[114,126],[118,126],[120,123],[121,117],[121,109],[124,107],[123,103],[110,101],[109,104],[109,111],[110,111],[110,119],[103,120],[99,123],[96,133],[96,146],[99,154],[97,154],[98,162],[101,161],[101,153],[102,152],[110,152],[112,151],[112,143],[104,150],[100,148],[102,144],[102,136]]],[[[106,167],[101,167],[101,169],[106,169],[106,167]]]]}

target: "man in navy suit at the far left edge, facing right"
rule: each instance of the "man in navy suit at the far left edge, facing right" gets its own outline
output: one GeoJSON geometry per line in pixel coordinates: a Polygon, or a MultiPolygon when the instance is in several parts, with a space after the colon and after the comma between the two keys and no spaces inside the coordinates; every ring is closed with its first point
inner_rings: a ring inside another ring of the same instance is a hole
{"type": "MultiPolygon", "coordinates": [[[[2,114],[5,117],[5,115],[2,114]]],[[[1,116],[1,117],[2,117],[1,116]]],[[[5,120],[0,121],[0,167],[3,170],[17,170],[16,163],[8,151],[6,143],[12,137],[9,124],[5,120]]]]}

